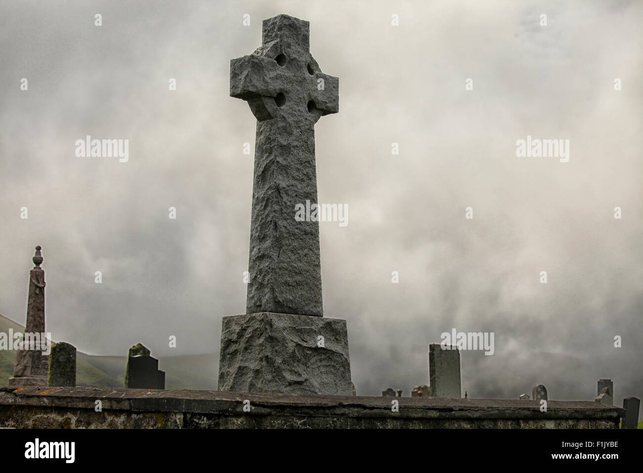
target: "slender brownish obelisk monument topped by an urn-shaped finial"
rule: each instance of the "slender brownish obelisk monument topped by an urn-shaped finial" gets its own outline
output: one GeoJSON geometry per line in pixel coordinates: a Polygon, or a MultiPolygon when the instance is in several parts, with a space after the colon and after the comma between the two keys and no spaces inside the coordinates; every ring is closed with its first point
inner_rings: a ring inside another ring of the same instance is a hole
{"type": "Polygon", "coordinates": [[[46,386],[50,340],[44,331],[44,270],[41,247],[36,246],[33,269],[29,273],[29,299],[24,339],[15,357],[14,377],[9,387],[46,386]],[[45,353],[43,353],[45,352],[45,353]]]}

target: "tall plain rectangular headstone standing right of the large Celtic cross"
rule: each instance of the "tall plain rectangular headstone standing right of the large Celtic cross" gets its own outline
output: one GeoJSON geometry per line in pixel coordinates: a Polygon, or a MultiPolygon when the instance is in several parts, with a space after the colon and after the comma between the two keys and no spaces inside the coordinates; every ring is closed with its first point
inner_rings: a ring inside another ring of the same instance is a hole
{"type": "Polygon", "coordinates": [[[435,398],[462,398],[460,386],[460,350],[457,346],[442,349],[440,344],[429,345],[429,382],[435,398]]]}

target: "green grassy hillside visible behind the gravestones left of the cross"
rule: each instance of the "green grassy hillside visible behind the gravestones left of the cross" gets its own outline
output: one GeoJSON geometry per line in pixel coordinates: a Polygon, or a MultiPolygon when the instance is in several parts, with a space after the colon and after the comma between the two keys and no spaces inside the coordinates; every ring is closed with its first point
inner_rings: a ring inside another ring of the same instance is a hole
{"type": "MultiPolygon", "coordinates": [[[[0,331],[23,331],[24,327],[0,315],[0,331]]],[[[152,352],[152,356],[154,352],[152,352]]],[[[165,371],[166,389],[217,389],[218,353],[158,357],[165,371]]],[[[0,350],[0,386],[8,385],[14,373],[15,351],[0,350]]],[[[78,351],[76,382],[79,386],[123,387],[127,357],[101,357],[78,351]]]]}

